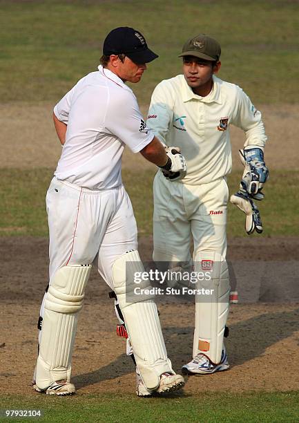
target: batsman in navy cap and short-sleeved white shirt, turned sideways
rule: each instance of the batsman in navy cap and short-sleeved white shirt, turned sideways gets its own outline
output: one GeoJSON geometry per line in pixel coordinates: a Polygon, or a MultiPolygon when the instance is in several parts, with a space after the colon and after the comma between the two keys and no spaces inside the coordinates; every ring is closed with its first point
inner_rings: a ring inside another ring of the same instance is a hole
{"type": "MultiPolygon", "coordinates": [[[[63,147],[46,196],[50,279],[39,317],[33,380],[38,392],[75,392],[70,382],[73,345],[93,264],[115,292],[126,322],[137,365],[137,394],[184,386],[167,357],[153,297],[128,296],[134,272],[144,268],[131,201],[122,185],[124,147],[162,169],[186,173],[184,157],[166,152],[148,130],[125,84],[139,82],[146,63],[156,57],[139,31],[115,28],[104,41],[98,71],[80,79],[55,106],[53,119],[63,147]]],[[[150,288],[146,282],[139,286],[150,288]]]]}

